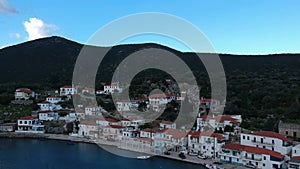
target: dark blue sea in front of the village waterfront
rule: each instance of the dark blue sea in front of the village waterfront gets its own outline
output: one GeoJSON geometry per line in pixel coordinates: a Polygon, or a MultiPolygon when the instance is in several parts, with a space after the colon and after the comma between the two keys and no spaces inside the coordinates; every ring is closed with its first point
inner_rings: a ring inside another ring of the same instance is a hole
{"type": "Polygon", "coordinates": [[[147,160],[110,153],[96,144],[60,140],[0,139],[0,169],[204,169],[153,156],[147,160]]]}

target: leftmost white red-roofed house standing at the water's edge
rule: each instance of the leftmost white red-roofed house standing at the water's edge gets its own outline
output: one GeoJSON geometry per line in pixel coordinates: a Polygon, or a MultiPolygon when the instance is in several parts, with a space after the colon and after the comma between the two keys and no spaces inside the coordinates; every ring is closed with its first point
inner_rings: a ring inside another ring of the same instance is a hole
{"type": "Polygon", "coordinates": [[[40,125],[36,117],[26,116],[18,119],[18,129],[15,132],[44,133],[44,125],[40,125]]]}

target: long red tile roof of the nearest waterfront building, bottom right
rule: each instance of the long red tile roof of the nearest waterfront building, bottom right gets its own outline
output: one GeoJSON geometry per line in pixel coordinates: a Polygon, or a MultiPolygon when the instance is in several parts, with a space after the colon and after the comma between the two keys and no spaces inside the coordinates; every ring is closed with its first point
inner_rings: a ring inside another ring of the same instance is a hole
{"type": "Polygon", "coordinates": [[[252,154],[265,154],[265,155],[270,155],[276,158],[284,158],[284,155],[275,152],[275,151],[271,151],[268,149],[264,149],[264,148],[258,148],[258,147],[251,147],[251,146],[244,146],[244,145],[240,145],[240,144],[226,144],[224,145],[222,148],[224,149],[230,149],[230,150],[237,150],[237,151],[246,151],[248,153],[252,153],[252,154]]]}

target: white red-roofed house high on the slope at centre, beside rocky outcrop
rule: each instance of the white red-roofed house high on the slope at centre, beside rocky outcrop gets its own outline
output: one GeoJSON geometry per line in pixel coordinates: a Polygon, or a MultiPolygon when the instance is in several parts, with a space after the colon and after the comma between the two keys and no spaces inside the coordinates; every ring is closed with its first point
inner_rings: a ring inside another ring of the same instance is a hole
{"type": "Polygon", "coordinates": [[[148,98],[150,107],[156,112],[161,111],[163,105],[170,103],[172,100],[176,100],[176,96],[172,94],[153,94],[148,98]]]}

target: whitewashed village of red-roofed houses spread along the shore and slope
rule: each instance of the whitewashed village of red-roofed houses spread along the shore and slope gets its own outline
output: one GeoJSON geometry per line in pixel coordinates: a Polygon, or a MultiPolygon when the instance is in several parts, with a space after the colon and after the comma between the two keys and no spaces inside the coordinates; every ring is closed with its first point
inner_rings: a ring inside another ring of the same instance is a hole
{"type": "MultiPolygon", "coordinates": [[[[17,123],[0,124],[0,131],[43,134],[49,132],[45,129],[46,123],[63,121],[72,124],[72,130],[66,133],[71,137],[87,138],[95,143],[116,145],[127,150],[175,155],[181,159],[190,156],[199,160],[213,159],[220,168],[222,164],[262,169],[300,168],[300,143],[290,137],[299,136],[297,126],[291,131],[291,127],[280,124],[279,133],[250,131],[240,127],[243,120],[241,115],[207,115],[200,111],[193,128],[183,130],[178,129],[173,121],[156,120],[149,123],[139,116],[107,116],[109,112],[101,106],[81,105],[79,109],[74,109],[61,105],[78,93],[111,95],[122,90],[118,83],[105,84],[103,90],[97,91],[93,88],[79,91],[76,86],[62,86],[37,103],[39,110],[21,117],[17,123]],[[59,113],[62,109],[67,113],[59,113]]],[[[31,104],[30,98],[35,97],[34,91],[19,88],[15,90],[15,100],[12,102],[31,104]]],[[[181,102],[184,97],[184,92],[181,95],[152,94],[143,103],[146,103],[146,109],[158,112],[164,108],[161,105],[181,102]]],[[[210,98],[201,98],[200,103],[204,110],[217,110],[224,106],[222,101],[210,98]]],[[[122,114],[137,110],[140,104],[138,101],[124,100],[117,101],[115,106],[122,114]]]]}

